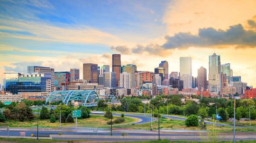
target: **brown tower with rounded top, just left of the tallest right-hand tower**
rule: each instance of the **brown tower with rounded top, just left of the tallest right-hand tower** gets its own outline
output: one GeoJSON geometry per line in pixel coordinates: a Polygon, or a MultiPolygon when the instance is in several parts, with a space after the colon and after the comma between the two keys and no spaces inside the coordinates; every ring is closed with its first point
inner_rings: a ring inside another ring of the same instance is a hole
{"type": "Polygon", "coordinates": [[[197,70],[197,87],[198,90],[207,90],[207,72],[206,68],[200,67],[197,70]]]}

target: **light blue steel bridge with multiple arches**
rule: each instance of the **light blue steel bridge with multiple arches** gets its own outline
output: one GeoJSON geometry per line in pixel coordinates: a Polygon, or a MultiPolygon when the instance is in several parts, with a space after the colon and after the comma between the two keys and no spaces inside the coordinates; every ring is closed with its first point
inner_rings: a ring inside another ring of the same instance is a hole
{"type": "Polygon", "coordinates": [[[81,101],[83,106],[93,107],[97,106],[99,96],[95,91],[54,91],[46,98],[47,102],[62,101],[68,104],[69,101],[81,101]]]}

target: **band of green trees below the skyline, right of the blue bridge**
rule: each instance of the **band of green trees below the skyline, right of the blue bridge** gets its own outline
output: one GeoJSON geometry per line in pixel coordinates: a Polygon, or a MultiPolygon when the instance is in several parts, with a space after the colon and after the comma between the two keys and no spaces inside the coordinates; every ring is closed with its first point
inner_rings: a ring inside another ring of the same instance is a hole
{"type": "MultiPolygon", "coordinates": [[[[158,113],[158,107],[161,114],[174,114],[174,115],[197,115],[201,118],[216,118],[217,114],[221,117],[220,121],[227,121],[234,116],[234,100],[224,98],[205,98],[194,96],[199,99],[199,102],[187,99],[182,102],[182,95],[168,95],[157,96],[150,101],[150,105],[154,107],[155,114],[158,113]],[[168,110],[167,110],[168,107],[168,110]]],[[[151,113],[152,107],[141,101],[140,98],[131,97],[123,98],[120,100],[121,105],[113,105],[113,110],[123,112],[139,112],[144,113],[144,106],[146,113],[151,113]]],[[[249,118],[249,107],[256,105],[256,99],[240,99],[236,100],[236,119],[249,118]]],[[[100,100],[98,102],[98,110],[107,110],[107,101],[100,100]]],[[[156,116],[156,115],[154,115],[156,116]]],[[[251,119],[256,119],[256,107],[251,108],[251,119]]]]}

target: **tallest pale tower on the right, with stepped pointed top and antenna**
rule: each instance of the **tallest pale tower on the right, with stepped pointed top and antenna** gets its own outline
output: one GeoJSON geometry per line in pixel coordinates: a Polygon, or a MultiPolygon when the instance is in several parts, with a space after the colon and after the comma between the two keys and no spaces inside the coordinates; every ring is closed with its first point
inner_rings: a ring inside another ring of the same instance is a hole
{"type": "Polygon", "coordinates": [[[220,56],[213,53],[209,56],[209,91],[219,93],[220,91],[220,56]]]}

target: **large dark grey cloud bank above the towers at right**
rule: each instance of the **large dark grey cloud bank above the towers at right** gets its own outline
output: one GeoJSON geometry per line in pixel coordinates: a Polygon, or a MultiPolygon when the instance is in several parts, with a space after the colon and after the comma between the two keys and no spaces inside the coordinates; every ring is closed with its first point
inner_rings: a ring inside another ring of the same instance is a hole
{"type": "Polygon", "coordinates": [[[256,32],[245,30],[241,24],[229,26],[229,29],[221,30],[212,27],[199,29],[199,33],[177,33],[174,36],[165,36],[165,49],[174,49],[190,46],[216,46],[238,45],[256,46],[256,32]]]}

